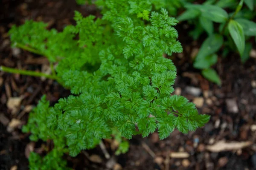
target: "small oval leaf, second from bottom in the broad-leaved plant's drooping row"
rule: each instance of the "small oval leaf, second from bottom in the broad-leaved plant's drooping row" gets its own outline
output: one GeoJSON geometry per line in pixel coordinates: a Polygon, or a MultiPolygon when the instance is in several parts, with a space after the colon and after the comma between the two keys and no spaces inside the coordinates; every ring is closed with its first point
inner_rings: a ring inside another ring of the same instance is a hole
{"type": "Polygon", "coordinates": [[[209,55],[207,57],[195,60],[193,66],[198,69],[210,68],[218,61],[218,56],[216,54],[209,55]]]}

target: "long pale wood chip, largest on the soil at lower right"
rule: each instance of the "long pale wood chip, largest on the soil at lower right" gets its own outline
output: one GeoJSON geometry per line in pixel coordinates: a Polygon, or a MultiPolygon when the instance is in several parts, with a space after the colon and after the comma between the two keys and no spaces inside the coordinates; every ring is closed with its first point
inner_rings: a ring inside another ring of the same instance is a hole
{"type": "Polygon", "coordinates": [[[207,145],[206,149],[211,152],[222,152],[222,151],[229,151],[229,150],[239,150],[244,147],[248,147],[252,144],[250,141],[246,142],[225,142],[225,141],[219,141],[216,142],[213,145],[207,145]]]}

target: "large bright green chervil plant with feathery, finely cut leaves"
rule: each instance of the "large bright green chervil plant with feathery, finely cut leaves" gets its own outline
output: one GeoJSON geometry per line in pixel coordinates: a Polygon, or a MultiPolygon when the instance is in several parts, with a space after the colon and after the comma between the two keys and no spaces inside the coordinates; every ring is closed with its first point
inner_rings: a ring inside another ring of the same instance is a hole
{"type": "Polygon", "coordinates": [[[76,26],[62,32],[34,21],[9,31],[13,45],[58,65],[51,75],[1,67],[3,71],[55,79],[72,93],[53,107],[43,96],[29,114],[23,132],[30,132],[32,141],[55,144],[44,158],[32,153],[31,169],[64,169],[64,153],[76,156],[112,134],[120,142],[119,154],[128,150],[124,138],[158,130],[165,139],[175,128],[188,133],[209,121],[195,104],[172,94],[176,68],[163,54],[182,51],[173,27],[178,21],[163,8],[152,11],[154,2],[98,0],[102,19],[76,11],[76,26]]]}

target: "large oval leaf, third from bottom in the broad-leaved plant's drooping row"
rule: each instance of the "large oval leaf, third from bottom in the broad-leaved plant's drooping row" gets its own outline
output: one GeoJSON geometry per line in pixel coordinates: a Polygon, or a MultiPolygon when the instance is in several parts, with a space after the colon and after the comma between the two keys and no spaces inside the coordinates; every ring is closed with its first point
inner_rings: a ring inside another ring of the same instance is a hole
{"type": "Polygon", "coordinates": [[[223,44],[223,37],[220,34],[212,34],[206,40],[204,40],[201,48],[198,52],[196,60],[207,57],[218,51],[223,44]]]}

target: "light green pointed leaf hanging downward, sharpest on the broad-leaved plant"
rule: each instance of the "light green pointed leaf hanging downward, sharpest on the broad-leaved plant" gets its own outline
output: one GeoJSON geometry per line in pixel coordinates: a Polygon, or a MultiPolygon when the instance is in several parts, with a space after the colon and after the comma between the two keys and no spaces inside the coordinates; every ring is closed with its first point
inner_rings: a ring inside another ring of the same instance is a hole
{"type": "Polygon", "coordinates": [[[228,30],[233,41],[236,44],[236,48],[238,49],[240,56],[242,56],[244,54],[245,45],[243,27],[235,20],[231,20],[228,24],[228,30]]]}

